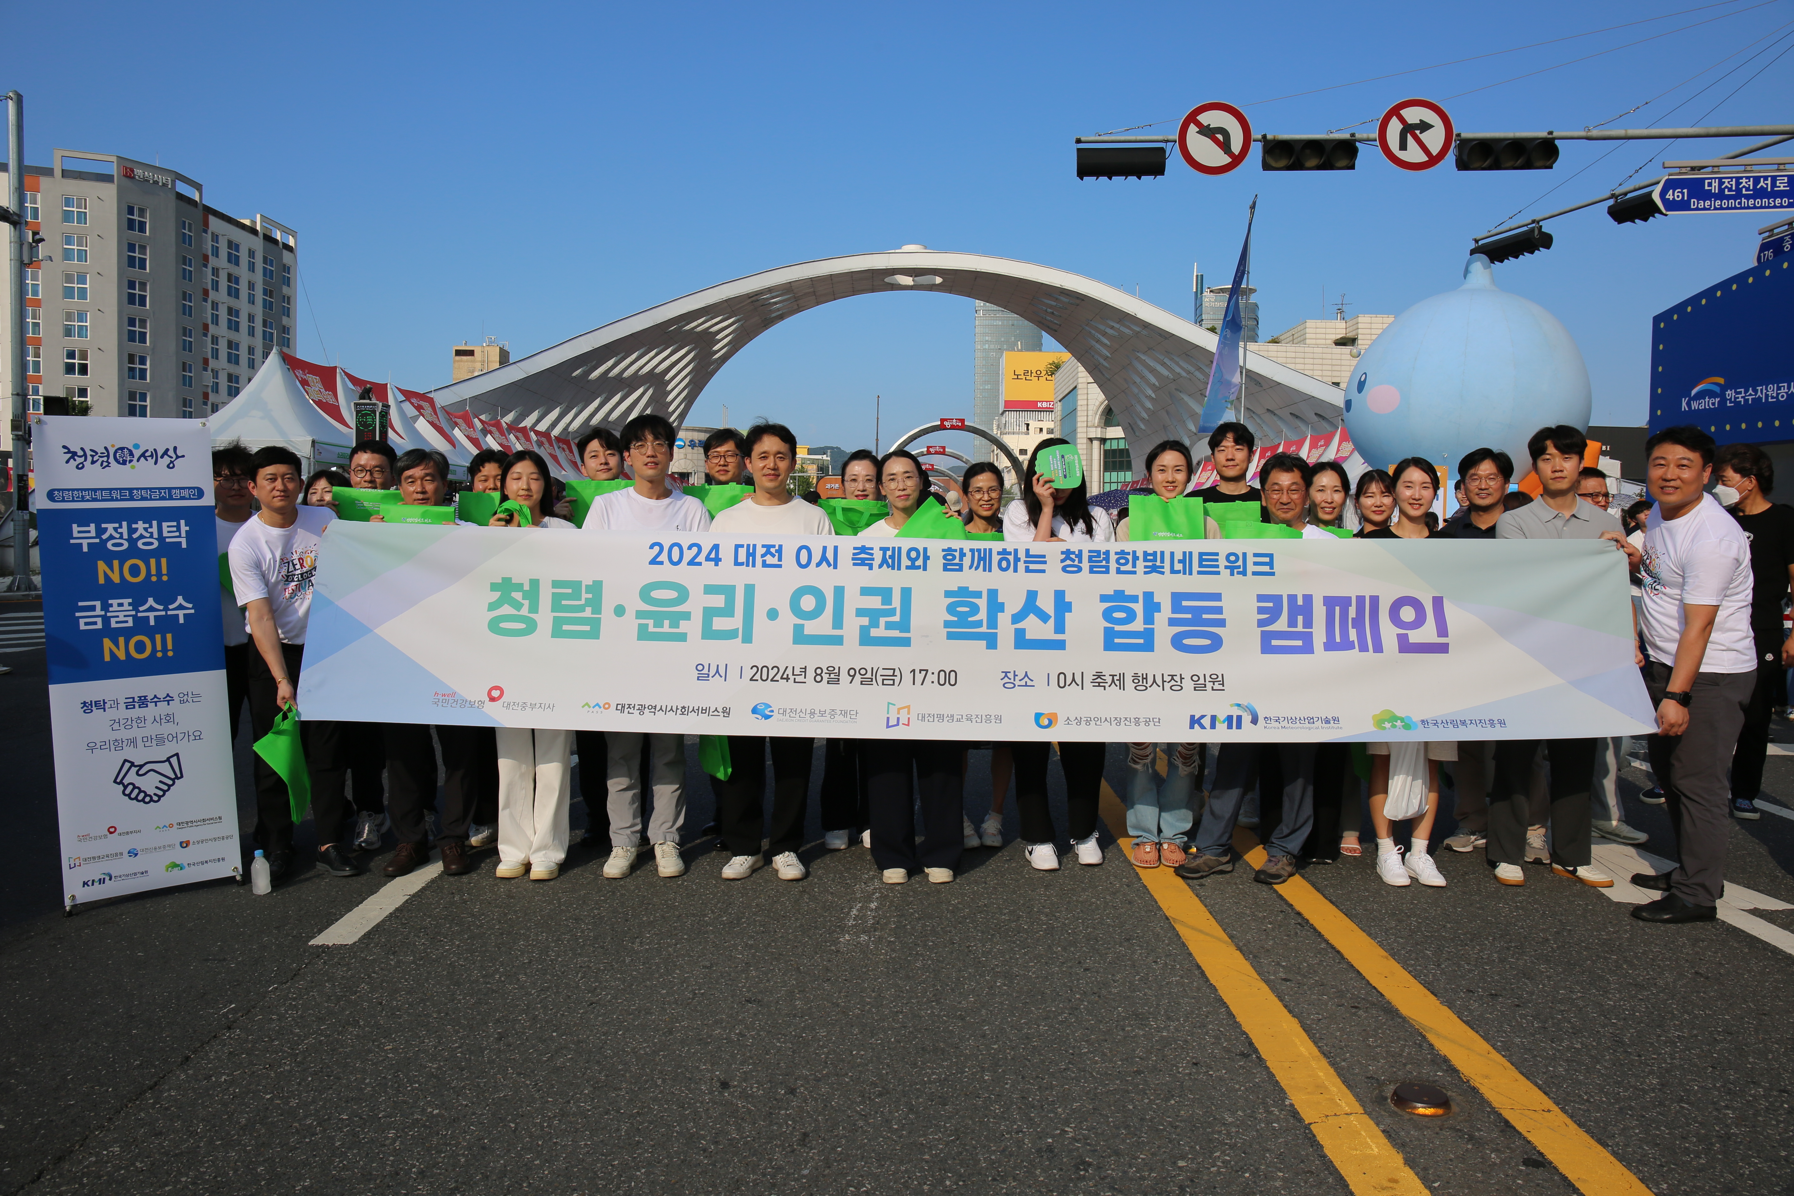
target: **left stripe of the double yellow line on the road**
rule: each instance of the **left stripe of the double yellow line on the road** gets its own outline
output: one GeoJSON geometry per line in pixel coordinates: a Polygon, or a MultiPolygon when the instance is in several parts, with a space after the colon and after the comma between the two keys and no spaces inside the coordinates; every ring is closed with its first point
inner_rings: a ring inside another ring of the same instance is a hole
{"type": "MultiPolygon", "coordinates": [[[[1127,830],[1121,800],[1107,782],[1103,819],[1127,830]]],[[[1121,839],[1123,852],[1130,845],[1130,839],[1121,839]]],[[[1424,1196],[1426,1185],[1403,1162],[1401,1151],[1376,1128],[1333,1065],[1189,886],[1166,868],[1143,870],[1139,877],[1351,1191],[1360,1196],[1424,1196]]]]}

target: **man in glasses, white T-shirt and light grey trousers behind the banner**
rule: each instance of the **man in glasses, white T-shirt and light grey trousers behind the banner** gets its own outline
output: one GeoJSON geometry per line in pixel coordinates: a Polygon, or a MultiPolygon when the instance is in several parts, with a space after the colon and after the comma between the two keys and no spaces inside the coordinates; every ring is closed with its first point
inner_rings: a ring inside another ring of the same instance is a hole
{"type": "MultiPolygon", "coordinates": [[[[635,416],[623,425],[623,461],[635,484],[592,500],[585,531],[707,533],[710,513],[691,495],[667,486],[676,432],[666,416],[635,416]]],[[[642,741],[653,758],[655,809],[648,825],[655,864],[662,877],[685,871],[678,837],[685,825],[685,737],[644,732],[606,732],[605,807],[610,816],[610,859],[605,875],[630,875],[642,850],[642,741]]],[[[583,760],[581,760],[583,766],[583,760]]]]}

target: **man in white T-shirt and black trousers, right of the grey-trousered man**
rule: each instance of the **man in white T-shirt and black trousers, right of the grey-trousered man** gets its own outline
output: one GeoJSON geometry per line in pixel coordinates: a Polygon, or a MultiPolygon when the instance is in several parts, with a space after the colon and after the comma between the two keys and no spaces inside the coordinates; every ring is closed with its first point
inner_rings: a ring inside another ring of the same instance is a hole
{"type": "MultiPolygon", "coordinates": [[[[832,536],[834,525],[820,507],[791,497],[791,470],[797,468],[797,436],[782,423],[748,429],[748,473],[753,493],[716,516],[710,531],[725,536],[832,536]]],[[[807,873],[797,852],[804,846],[804,818],[809,798],[809,762],[814,739],[786,735],[730,735],[730,778],[712,778],[716,825],[728,845],[725,880],[743,880],[764,862],[761,843],[771,852],[780,880],[802,880],[807,873]],[[762,816],[766,802],[768,751],[773,758],[773,816],[762,816]]]]}

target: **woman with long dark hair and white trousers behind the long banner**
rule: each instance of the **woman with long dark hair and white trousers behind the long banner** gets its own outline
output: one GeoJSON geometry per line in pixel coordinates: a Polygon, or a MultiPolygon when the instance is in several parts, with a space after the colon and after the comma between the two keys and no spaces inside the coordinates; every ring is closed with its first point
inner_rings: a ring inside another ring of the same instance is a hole
{"type": "MultiPolygon", "coordinates": [[[[549,463],[526,448],[504,459],[501,493],[529,511],[529,527],[567,529],[572,524],[544,511],[549,502],[549,463]]],[[[492,527],[518,527],[511,511],[492,516],[492,527]]],[[[499,870],[501,879],[553,880],[567,859],[572,802],[572,732],[499,728],[499,870]]]]}

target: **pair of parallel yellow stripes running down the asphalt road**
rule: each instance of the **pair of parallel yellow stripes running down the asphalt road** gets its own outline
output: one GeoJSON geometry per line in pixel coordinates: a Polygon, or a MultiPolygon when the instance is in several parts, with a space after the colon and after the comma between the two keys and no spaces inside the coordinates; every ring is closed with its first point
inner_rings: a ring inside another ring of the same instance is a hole
{"type": "MultiPolygon", "coordinates": [[[[1118,828],[1121,850],[1132,846],[1125,837],[1127,810],[1114,789],[1103,782],[1103,821],[1118,828]]],[[[1241,832],[1243,836],[1243,832],[1241,832]]],[[[1249,846],[1241,843],[1240,846],[1249,846]]],[[[1245,862],[1258,868],[1265,862],[1265,848],[1252,846],[1245,862]]],[[[1215,920],[1215,914],[1197,898],[1188,884],[1168,868],[1137,871],[1159,909],[1171,920],[1179,938],[1195,956],[1209,983],[1265,1056],[1277,1083],[1308,1122],[1320,1149],[1338,1167],[1353,1192],[1421,1194],[1426,1185],[1403,1160],[1401,1151],[1376,1128],[1351,1090],[1326,1062],[1319,1047],[1283,1006],[1270,986],[1259,977],[1247,958],[1215,920]]],[[[1588,1196],[1650,1196],[1638,1176],[1625,1169],[1607,1149],[1570,1121],[1557,1105],[1530,1079],[1491,1047],[1476,1031],[1451,1013],[1424,984],[1408,974],[1387,950],[1365,934],[1351,918],[1338,911],[1301,877],[1277,886],[1290,906],[1338,950],[1347,963],[1406,1017],[1428,1042],[1444,1054],[1459,1072],[1507,1121],[1520,1130],[1572,1183],[1588,1196]]]]}

